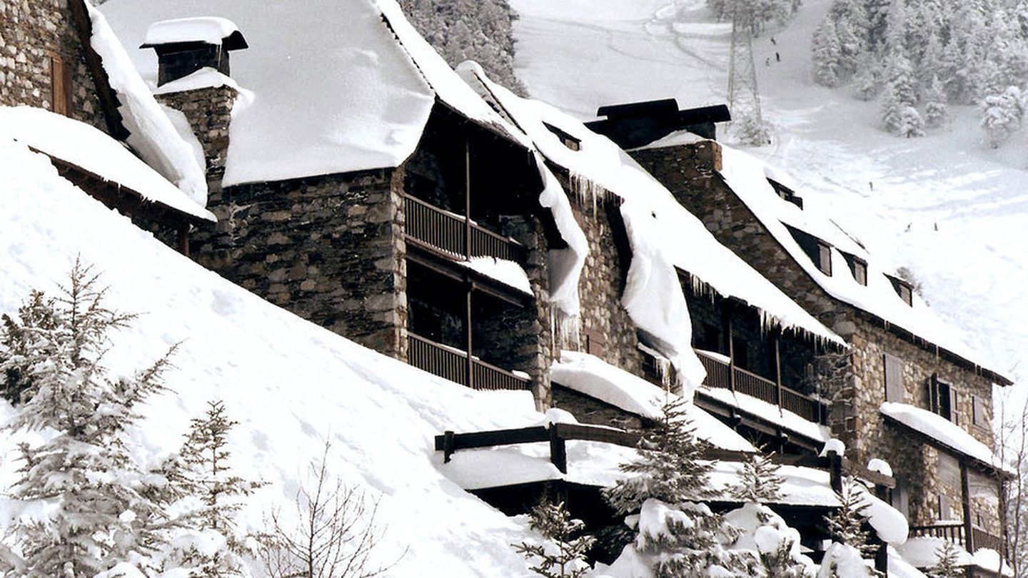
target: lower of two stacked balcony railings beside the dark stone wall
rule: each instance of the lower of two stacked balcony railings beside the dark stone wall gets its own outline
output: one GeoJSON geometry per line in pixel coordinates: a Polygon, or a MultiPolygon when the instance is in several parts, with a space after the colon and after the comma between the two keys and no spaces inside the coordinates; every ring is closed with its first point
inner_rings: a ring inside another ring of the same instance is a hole
{"type": "Polygon", "coordinates": [[[439,375],[476,390],[528,390],[531,382],[461,350],[407,333],[407,362],[433,375],[439,375]],[[470,383],[469,383],[470,382],[470,383]]]}

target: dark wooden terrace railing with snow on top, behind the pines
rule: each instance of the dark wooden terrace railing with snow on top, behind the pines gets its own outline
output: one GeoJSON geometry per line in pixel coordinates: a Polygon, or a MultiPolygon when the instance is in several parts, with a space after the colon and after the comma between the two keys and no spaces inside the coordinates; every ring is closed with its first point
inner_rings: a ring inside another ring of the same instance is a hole
{"type": "MultiPolygon", "coordinates": [[[[551,424],[550,426],[533,426],[510,430],[493,430],[485,432],[454,433],[446,431],[437,435],[436,451],[443,453],[443,462],[448,463],[454,451],[476,447],[493,447],[497,445],[512,445],[516,443],[550,442],[550,462],[563,473],[567,473],[567,453],[564,442],[568,440],[599,441],[624,447],[638,445],[639,434],[617,428],[593,426],[589,424],[551,424]]],[[[704,446],[701,451],[705,460],[721,462],[742,462],[750,454],[734,451],[719,447],[704,446]]],[[[852,475],[868,480],[876,485],[895,487],[895,480],[889,476],[873,472],[842,456],[832,453],[827,457],[811,455],[782,456],[772,454],[768,457],[772,463],[788,466],[801,466],[829,470],[833,487],[841,487],[843,474],[852,475]]]]}

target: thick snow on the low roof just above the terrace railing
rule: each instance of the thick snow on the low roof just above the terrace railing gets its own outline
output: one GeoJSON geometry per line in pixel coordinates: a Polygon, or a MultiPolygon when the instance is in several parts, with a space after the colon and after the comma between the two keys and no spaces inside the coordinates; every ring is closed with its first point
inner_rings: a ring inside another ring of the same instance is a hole
{"type": "MultiPolygon", "coordinates": [[[[560,359],[550,366],[550,380],[650,420],[659,420],[663,416],[661,407],[668,398],[677,397],[594,355],[582,352],[560,352],[560,359]]],[[[687,405],[686,414],[700,439],[725,449],[757,450],[738,433],[692,403],[687,405]]]]}

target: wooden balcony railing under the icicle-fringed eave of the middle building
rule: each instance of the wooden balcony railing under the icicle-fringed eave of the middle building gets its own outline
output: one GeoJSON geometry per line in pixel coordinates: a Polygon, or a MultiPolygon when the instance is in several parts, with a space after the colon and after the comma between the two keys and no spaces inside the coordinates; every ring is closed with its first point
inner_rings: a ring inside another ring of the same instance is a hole
{"type": "Polygon", "coordinates": [[[702,351],[697,351],[696,354],[706,369],[707,377],[704,384],[708,388],[723,388],[756,397],[815,424],[823,424],[828,419],[825,405],[810,396],[732,366],[702,351]]]}

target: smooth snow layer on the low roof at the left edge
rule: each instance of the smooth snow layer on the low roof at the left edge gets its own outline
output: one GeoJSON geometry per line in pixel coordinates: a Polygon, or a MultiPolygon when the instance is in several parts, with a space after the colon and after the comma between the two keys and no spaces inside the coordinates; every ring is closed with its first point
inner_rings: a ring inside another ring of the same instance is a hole
{"type": "Polygon", "coordinates": [[[204,220],[217,220],[121,143],[84,122],[41,108],[0,106],[0,134],[128,187],[148,201],[204,220]]]}

